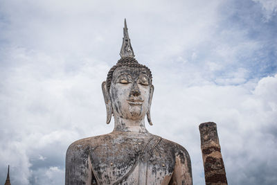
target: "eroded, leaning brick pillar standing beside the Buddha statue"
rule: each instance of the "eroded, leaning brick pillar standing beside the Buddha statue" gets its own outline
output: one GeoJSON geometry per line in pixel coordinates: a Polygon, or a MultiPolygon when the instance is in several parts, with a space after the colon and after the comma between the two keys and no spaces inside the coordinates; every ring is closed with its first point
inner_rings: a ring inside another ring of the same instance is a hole
{"type": "Polygon", "coordinates": [[[216,124],[202,123],[199,131],[206,185],[227,184],[216,124]]]}

